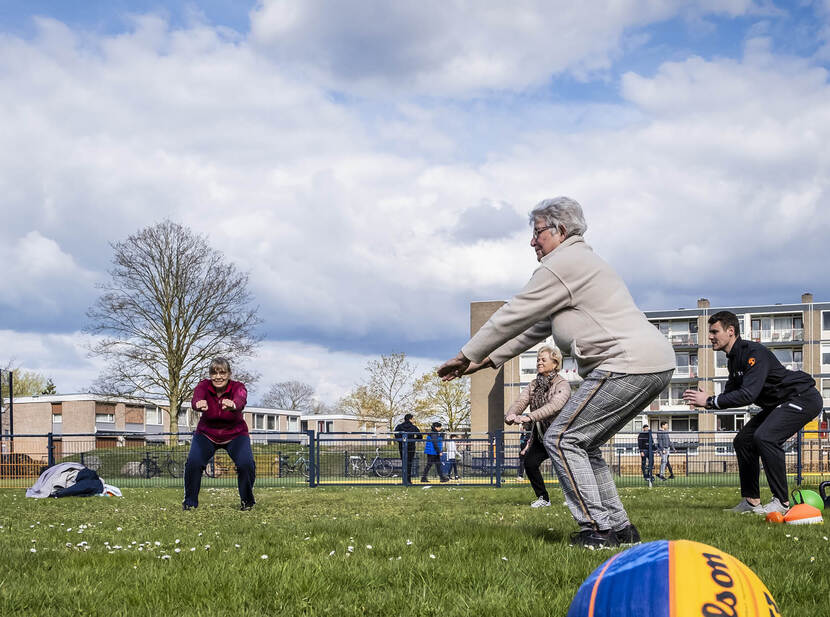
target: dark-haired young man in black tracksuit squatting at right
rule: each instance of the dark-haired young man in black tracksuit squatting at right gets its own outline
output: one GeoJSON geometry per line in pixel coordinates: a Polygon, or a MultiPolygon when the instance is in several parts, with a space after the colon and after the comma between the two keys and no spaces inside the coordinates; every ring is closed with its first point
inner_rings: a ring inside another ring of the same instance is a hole
{"type": "Polygon", "coordinates": [[[707,396],[686,390],[683,399],[706,409],[727,409],[755,403],[761,411],[740,430],[734,440],[741,479],[741,502],[733,512],[769,514],[789,507],[784,442],[815,418],[822,408],[815,380],[803,371],[785,369],[773,353],[741,338],[734,313],[720,311],[709,318],[709,341],[715,351],[726,352],[729,378],[722,394],[707,396]],[[772,501],[761,506],[758,486],[764,462],[772,501]]]}

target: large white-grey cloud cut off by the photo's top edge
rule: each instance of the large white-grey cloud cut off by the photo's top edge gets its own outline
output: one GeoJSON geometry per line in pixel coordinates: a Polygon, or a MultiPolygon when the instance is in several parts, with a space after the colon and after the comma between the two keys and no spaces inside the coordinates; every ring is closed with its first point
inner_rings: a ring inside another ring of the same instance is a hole
{"type": "Polygon", "coordinates": [[[586,78],[609,69],[638,27],[757,10],[751,0],[263,0],[251,33],[276,61],[333,88],[442,96],[522,90],[566,71],[586,78]]]}

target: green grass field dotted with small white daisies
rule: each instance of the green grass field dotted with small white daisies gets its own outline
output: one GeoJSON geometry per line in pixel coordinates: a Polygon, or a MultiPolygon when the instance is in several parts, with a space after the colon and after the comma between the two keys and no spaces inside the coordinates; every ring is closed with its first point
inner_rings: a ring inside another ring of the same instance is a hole
{"type": "MultiPolygon", "coordinates": [[[[828,614],[825,525],[723,513],[734,488],[621,494],[644,540],[717,546],[761,577],[782,614],[828,614]]],[[[0,490],[0,615],[558,616],[613,554],[568,546],[558,490],[540,510],[527,485],[256,495],[239,512],[235,489],[208,487],[182,512],[180,489],[67,500],[0,490]]]]}

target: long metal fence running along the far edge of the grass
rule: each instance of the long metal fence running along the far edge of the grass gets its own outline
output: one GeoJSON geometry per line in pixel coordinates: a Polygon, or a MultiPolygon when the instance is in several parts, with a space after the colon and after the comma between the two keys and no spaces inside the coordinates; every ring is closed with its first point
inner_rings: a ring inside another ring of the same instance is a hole
{"type": "MultiPolygon", "coordinates": [[[[665,483],[676,486],[738,485],[734,433],[671,433],[672,448],[641,453],[637,433],[619,433],[601,448],[620,486],[643,486],[644,471],[657,475],[663,458],[671,466],[665,483]],[[645,454],[645,456],[643,456],[645,454]],[[643,464],[645,459],[645,465],[643,464]]],[[[31,486],[41,471],[76,461],[118,487],[183,485],[190,435],[26,434],[0,441],[0,487],[31,486]]],[[[446,439],[446,436],[445,436],[446,439]]],[[[454,460],[429,465],[424,440],[392,434],[251,434],[256,486],[409,485],[446,481],[455,485],[503,486],[524,481],[520,475],[519,434],[496,431],[453,439],[454,460]],[[429,469],[427,467],[429,466],[429,469]]],[[[830,479],[830,440],[826,431],[801,431],[784,444],[790,482],[813,485],[830,479]]],[[[545,481],[556,483],[550,461],[542,464],[545,481]]],[[[761,481],[764,482],[762,474],[761,481]]],[[[656,480],[662,484],[662,480],[656,480]]],[[[236,486],[236,469],[220,449],[202,477],[202,486],[236,486]]]]}

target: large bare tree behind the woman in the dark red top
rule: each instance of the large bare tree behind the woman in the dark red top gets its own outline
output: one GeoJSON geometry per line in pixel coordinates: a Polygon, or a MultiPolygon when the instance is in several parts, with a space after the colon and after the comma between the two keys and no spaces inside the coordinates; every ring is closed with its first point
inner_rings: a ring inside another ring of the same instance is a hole
{"type": "MultiPolygon", "coordinates": [[[[91,348],[108,362],[101,393],[170,403],[170,432],[210,359],[253,355],[260,323],[248,275],[224,261],[204,236],[171,221],[112,245],[111,280],[89,309],[91,348]]],[[[235,377],[242,371],[234,369],[235,377]]]]}

